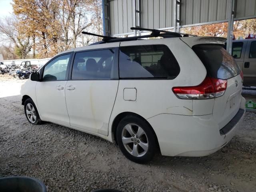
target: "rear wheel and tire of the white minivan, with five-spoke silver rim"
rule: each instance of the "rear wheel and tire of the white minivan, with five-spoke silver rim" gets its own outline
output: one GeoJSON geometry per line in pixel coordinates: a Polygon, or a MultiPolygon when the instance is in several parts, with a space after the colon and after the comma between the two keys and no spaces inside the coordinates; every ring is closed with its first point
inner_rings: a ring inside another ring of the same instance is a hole
{"type": "Polygon", "coordinates": [[[136,163],[149,162],[156,151],[156,137],[152,128],[146,120],[136,116],[128,115],[119,122],[116,140],[124,156],[136,163]]]}

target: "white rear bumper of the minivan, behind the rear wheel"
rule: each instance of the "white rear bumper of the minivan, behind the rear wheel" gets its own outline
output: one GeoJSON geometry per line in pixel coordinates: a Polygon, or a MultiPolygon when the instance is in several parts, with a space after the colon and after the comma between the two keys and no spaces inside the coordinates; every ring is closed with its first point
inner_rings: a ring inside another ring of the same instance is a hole
{"type": "Polygon", "coordinates": [[[242,98],[240,110],[222,128],[224,130],[220,130],[212,114],[203,116],[159,114],[149,118],[148,122],[156,132],[162,155],[206,156],[218,151],[234,137],[244,119],[244,103],[245,100],[242,98]]]}

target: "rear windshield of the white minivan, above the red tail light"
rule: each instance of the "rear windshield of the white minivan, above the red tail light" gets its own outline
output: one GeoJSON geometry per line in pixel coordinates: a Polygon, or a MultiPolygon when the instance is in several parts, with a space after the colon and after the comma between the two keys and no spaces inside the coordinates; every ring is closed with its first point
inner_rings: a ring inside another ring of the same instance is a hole
{"type": "Polygon", "coordinates": [[[199,44],[192,47],[204,64],[208,76],[229,79],[240,74],[234,58],[219,44],[199,44]]]}

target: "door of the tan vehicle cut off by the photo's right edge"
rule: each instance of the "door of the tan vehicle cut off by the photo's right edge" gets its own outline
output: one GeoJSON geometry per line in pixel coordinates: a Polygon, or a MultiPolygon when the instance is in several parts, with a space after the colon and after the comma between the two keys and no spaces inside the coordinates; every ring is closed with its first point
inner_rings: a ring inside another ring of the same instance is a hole
{"type": "Polygon", "coordinates": [[[244,56],[244,86],[256,86],[256,41],[248,41],[244,56]]]}

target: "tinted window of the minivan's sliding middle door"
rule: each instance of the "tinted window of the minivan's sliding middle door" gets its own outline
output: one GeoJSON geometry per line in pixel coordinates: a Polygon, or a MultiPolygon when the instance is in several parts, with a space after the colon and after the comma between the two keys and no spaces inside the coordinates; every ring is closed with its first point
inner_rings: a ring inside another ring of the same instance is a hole
{"type": "Polygon", "coordinates": [[[74,58],[72,80],[110,79],[114,49],[78,52],[74,58]]]}

